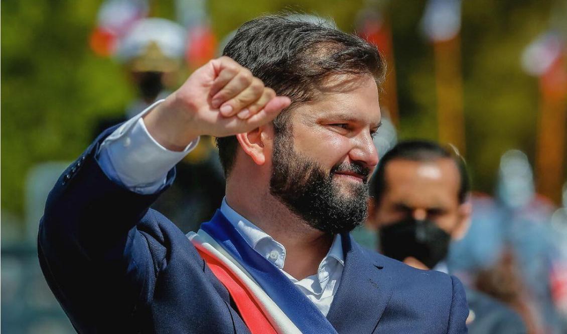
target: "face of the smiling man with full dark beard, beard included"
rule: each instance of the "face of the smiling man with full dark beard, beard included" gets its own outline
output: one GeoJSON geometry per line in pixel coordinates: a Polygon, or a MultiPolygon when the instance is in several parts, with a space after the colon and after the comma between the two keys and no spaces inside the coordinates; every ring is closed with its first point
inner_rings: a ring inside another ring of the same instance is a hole
{"type": "Polygon", "coordinates": [[[380,108],[370,76],[336,78],[331,85],[340,90],[325,89],[295,108],[290,133],[276,137],[270,192],[312,227],[340,233],[366,218],[380,108]]]}

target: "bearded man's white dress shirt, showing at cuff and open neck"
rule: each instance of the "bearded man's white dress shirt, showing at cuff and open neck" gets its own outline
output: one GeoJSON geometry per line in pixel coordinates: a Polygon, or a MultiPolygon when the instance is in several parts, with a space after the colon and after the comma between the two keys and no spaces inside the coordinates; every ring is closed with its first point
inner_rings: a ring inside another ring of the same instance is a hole
{"type": "MultiPolygon", "coordinates": [[[[122,124],[100,145],[97,159],[112,181],[139,194],[153,194],[164,187],[167,173],[196,147],[198,139],[184,151],[174,152],[160,145],[147,131],[142,116],[163,100],[122,124]]],[[[317,273],[298,281],[284,271],[285,247],[234,211],[223,199],[221,212],[247,243],[277,266],[315,306],[327,316],[344,269],[341,236],[336,235],[317,273]]]]}

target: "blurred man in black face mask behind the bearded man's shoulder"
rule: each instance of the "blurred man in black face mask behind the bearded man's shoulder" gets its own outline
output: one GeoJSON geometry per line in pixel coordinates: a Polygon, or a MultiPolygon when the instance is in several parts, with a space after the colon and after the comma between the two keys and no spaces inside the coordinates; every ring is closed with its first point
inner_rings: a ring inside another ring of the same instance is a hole
{"type": "MultiPolygon", "coordinates": [[[[369,226],[379,230],[382,253],[420,269],[447,272],[451,240],[467,230],[471,204],[462,160],[430,141],[403,141],[391,149],[373,179],[369,226]]],[[[526,333],[514,311],[466,289],[469,333],[526,333]]]]}

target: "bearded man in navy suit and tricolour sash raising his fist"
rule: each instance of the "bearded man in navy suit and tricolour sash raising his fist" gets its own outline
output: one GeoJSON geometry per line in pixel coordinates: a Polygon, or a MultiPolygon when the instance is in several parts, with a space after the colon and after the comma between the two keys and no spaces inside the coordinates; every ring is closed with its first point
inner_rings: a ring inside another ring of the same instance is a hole
{"type": "Polygon", "coordinates": [[[366,252],[348,233],[378,162],[376,48],[264,16],[224,54],[102,133],[50,194],[40,263],[75,328],[466,333],[458,279],[366,252]],[[219,137],[226,198],[187,240],[147,208],[201,135],[219,137]]]}

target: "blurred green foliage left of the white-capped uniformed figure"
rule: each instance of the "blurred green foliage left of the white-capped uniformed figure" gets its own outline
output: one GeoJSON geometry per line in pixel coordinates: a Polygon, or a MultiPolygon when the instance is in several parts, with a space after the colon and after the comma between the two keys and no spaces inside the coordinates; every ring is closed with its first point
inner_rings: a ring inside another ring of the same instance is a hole
{"type": "Polygon", "coordinates": [[[2,2],[2,209],[22,214],[26,173],[73,160],[94,121],[132,97],[119,65],[88,48],[98,1],[2,2]]]}

